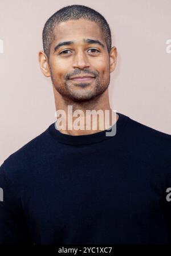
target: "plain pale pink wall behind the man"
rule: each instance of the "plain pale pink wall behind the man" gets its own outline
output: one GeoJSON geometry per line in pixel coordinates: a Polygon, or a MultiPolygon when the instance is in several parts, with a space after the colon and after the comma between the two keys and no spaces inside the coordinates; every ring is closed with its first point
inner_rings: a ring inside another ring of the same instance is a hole
{"type": "Polygon", "coordinates": [[[51,80],[40,71],[38,51],[44,23],[73,4],[99,11],[111,27],[118,51],[109,85],[112,108],[171,134],[170,0],[1,0],[0,164],[56,120],[51,80]]]}

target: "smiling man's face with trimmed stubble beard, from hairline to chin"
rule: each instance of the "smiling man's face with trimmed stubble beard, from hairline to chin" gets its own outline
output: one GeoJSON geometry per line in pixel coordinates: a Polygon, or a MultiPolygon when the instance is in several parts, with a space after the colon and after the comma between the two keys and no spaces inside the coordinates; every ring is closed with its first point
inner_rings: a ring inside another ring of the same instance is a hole
{"type": "Polygon", "coordinates": [[[103,94],[110,82],[110,58],[97,23],[86,19],[61,22],[54,35],[48,64],[56,91],[74,101],[91,100],[103,94]],[[69,43],[56,47],[63,42],[69,43]],[[74,76],[91,78],[73,79],[74,76]]]}

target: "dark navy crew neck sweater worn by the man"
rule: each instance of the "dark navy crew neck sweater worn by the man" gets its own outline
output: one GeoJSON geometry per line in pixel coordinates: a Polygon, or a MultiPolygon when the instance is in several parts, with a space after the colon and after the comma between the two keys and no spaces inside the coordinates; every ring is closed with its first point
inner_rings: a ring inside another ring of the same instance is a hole
{"type": "Polygon", "coordinates": [[[117,113],[116,135],[46,131],[0,167],[0,244],[171,243],[171,135],[117,113]]]}

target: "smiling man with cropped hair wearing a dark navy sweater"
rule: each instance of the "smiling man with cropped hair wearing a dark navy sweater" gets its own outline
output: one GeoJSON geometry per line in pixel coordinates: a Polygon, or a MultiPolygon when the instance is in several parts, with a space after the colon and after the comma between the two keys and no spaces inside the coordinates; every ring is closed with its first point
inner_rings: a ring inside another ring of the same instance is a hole
{"type": "Polygon", "coordinates": [[[64,7],[46,22],[43,48],[40,68],[63,125],[56,120],[1,165],[0,243],[170,243],[171,136],[112,111],[117,50],[107,21],[64,7]],[[107,122],[97,117],[86,129],[87,110],[108,111],[107,122]]]}

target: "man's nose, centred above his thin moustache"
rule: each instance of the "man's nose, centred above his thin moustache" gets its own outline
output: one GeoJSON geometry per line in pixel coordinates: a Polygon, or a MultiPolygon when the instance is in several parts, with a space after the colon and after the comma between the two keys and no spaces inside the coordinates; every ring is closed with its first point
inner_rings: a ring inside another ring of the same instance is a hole
{"type": "Polygon", "coordinates": [[[79,51],[74,56],[74,68],[85,68],[89,67],[89,61],[86,56],[86,53],[83,51],[79,51]]]}

